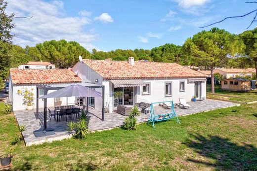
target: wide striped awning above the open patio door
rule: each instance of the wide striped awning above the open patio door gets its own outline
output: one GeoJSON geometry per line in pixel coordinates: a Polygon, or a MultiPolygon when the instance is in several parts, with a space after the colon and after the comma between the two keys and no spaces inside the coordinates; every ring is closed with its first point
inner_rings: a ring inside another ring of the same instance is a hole
{"type": "Polygon", "coordinates": [[[144,81],[141,79],[112,79],[110,81],[113,83],[114,88],[145,86],[144,81]]]}

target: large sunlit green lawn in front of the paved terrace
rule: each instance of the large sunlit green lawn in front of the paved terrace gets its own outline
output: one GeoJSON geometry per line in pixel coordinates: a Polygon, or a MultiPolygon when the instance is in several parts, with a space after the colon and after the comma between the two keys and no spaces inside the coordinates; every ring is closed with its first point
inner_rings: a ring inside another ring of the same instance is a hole
{"type": "MultiPolygon", "coordinates": [[[[26,147],[15,146],[13,170],[257,170],[257,104],[213,110],[136,131],[113,129],[26,147]]],[[[0,147],[18,134],[0,115],[0,147]]]]}

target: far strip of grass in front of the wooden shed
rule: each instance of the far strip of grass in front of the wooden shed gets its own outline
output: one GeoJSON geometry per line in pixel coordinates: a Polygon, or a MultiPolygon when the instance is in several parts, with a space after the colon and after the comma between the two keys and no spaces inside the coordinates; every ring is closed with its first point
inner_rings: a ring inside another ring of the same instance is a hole
{"type": "Polygon", "coordinates": [[[211,94],[211,85],[207,85],[207,98],[230,100],[235,102],[257,101],[257,90],[250,92],[236,92],[221,90],[219,85],[215,85],[215,95],[211,94]]]}

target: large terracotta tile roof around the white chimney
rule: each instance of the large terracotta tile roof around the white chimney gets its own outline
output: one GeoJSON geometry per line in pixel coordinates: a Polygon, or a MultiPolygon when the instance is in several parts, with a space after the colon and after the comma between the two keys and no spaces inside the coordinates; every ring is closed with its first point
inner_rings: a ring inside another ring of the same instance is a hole
{"type": "Polygon", "coordinates": [[[84,63],[104,79],[135,78],[195,78],[205,74],[175,63],[157,63],[135,61],[132,66],[128,61],[83,60],[84,63]]]}

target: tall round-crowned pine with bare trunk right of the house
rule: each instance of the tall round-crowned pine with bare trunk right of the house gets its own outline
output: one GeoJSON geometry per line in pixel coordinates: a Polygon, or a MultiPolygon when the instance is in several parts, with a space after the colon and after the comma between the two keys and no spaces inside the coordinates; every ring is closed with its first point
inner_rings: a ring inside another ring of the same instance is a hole
{"type": "Polygon", "coordinates": [[[184,43],[187,52],[197,59],[200,65],[211,69],[212,93],[214,91],[214,68],[227,63],[228,56],[233,57],[244,49],[241,40],[231,41],[237,37],[225,30],[212,28],[188,38],[184,43]]]}

